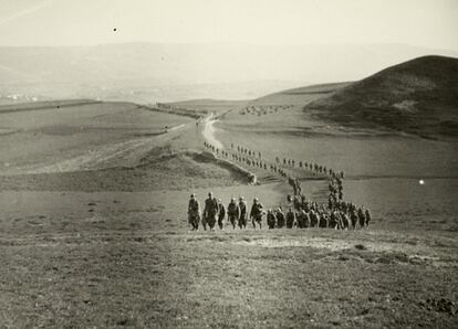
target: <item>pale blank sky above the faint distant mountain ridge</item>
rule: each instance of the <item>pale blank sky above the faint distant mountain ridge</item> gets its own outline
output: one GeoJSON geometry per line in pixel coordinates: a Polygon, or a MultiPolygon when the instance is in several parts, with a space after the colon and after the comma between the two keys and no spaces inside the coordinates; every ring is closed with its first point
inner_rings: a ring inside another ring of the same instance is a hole
{"type": "Polygon", "coordinates": [[[458,0],[0,0],[0,45],[402,43],[458,51],[457,18],[458,0]]]}

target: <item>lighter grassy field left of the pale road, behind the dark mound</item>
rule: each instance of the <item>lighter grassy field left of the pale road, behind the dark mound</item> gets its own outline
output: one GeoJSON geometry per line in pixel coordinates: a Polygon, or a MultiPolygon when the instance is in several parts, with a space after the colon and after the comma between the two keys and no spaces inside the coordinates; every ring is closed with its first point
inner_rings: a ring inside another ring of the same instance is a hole
{"type": "Polygon", "coordinates": [[[0,174],[125,166],[136,151],[166,142],[165,126],[191,121],[132,103],[60,100],[0,107],[0,174]]]}

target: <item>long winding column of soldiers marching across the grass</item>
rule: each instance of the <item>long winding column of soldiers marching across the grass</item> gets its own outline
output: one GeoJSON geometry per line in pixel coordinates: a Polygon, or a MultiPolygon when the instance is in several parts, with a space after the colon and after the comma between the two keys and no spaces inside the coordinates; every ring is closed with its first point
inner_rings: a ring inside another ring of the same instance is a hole
{"type": "MultiPolygon", "coordinates": [[[[220,150],[215,148],[209,144],[205,144],[206,148],[211,149],[214,152],[219,155],[220,150]]],[[[233,145],[231,145],[233,149],[233,145]]],[[[248,150],[247,148],[237,147],[238,152],[232,153],[233,159],[239,159],[239,153],[248,155],[248,160],[254,161],[253,158],[257,156],[254,151],[248,150]]],[[[229,153],[221,150],[222,157],[229,157],[229,153]]],[[[258,158],[261,159],[261,152],[258,152],[258,158]]],[[[244,157],[241,158],[242,161],[247,161],[244,157]]],[[[279,162],[279,158],[277,158],[279,162]]],[[[258,163],[263,163],[267,167],[267,162],[262,160],[256,161],[258,163]]],[[[283,159],[284,163],[290,163],[294,166],[294,160],[283,159]]],[[[306,162],[299,161],[300,167],[306,162]]],[[[258,164],[261,168],[262,164],[258,164]]],[[[272,164],[270,167],[272,169],[272,164]]],[[[334,230],[348,230],[356,229],[356,226],[368,227],[371,222],[371,213],[364,206],[356,208],[352,202],[345,202],[343,200],[343,172],[336,173],[332,169],[326,169],[319,164],[310,164],[309,168],[312,170],[316,168],[315,172],[326,173],[326,177],[330,179],[329,189],[329,202],[327,206],[324,204],[318,204],[316,202],[311,202],[306,200],[305,197],[301,193],[301,187],[298,179],[294,179],[292,176],[289,176],[289,183],[293,188],[293,197],[288,195],[288,201],[292,202],[293,206],[284,213],[283,210],[278,208],[277,210],[263,209],[263,205],[257,198],[253,199],[253,203],[250,212],[248,213],[248,205],[243,197],[239,198],[239,201],[235,198],[231,199],[227,209],[222,204],[221,200],[217,200],[212,193],[209,193],[209,198],[205,201],[205,208],[202,214],[200,214],[200,204],[196,199],[195,194],[191,194],[188,204],[188,221],[192,230],[198,230],[199,222],[204,226],[204,230],[207,230],[207,226],[210,230],[215,230],[216,223],[222,230],[223,220],[227,215],[228,221],[233,229],[238,225],[240,229],[247,227],[248,217],[251,219],[252,225],[256,229],[257,225],[261,229],[262,217],[267,213],[267,224],[269,229],[308,229],[308,227],[321,227],[321,229],[334,229],[334,230]]],[[[282,170],[282,169],[281,169],[282,170]]]]}

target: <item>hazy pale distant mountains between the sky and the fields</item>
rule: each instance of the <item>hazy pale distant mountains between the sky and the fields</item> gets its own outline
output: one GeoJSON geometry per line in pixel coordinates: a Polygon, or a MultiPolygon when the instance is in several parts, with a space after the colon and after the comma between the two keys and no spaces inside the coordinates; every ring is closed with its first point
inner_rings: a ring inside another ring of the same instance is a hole
{"type": "Polygon", "coordinates": [[[2,46],[0,103],[56,98],[138,103],[252,99],[304,84],[355,81],[426,54],[458,55],[402,44],[2,46]]]}

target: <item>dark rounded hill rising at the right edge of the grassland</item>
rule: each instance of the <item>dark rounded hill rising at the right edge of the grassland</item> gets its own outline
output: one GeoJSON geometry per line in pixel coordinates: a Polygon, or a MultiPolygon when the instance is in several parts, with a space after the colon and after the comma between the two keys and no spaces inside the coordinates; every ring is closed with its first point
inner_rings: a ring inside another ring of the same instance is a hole
{"type": "Polygon", "coordinates": [[[305,106],[322,119],[423,137],[458,137],[458,59],[418,57],[305,106]]]}

